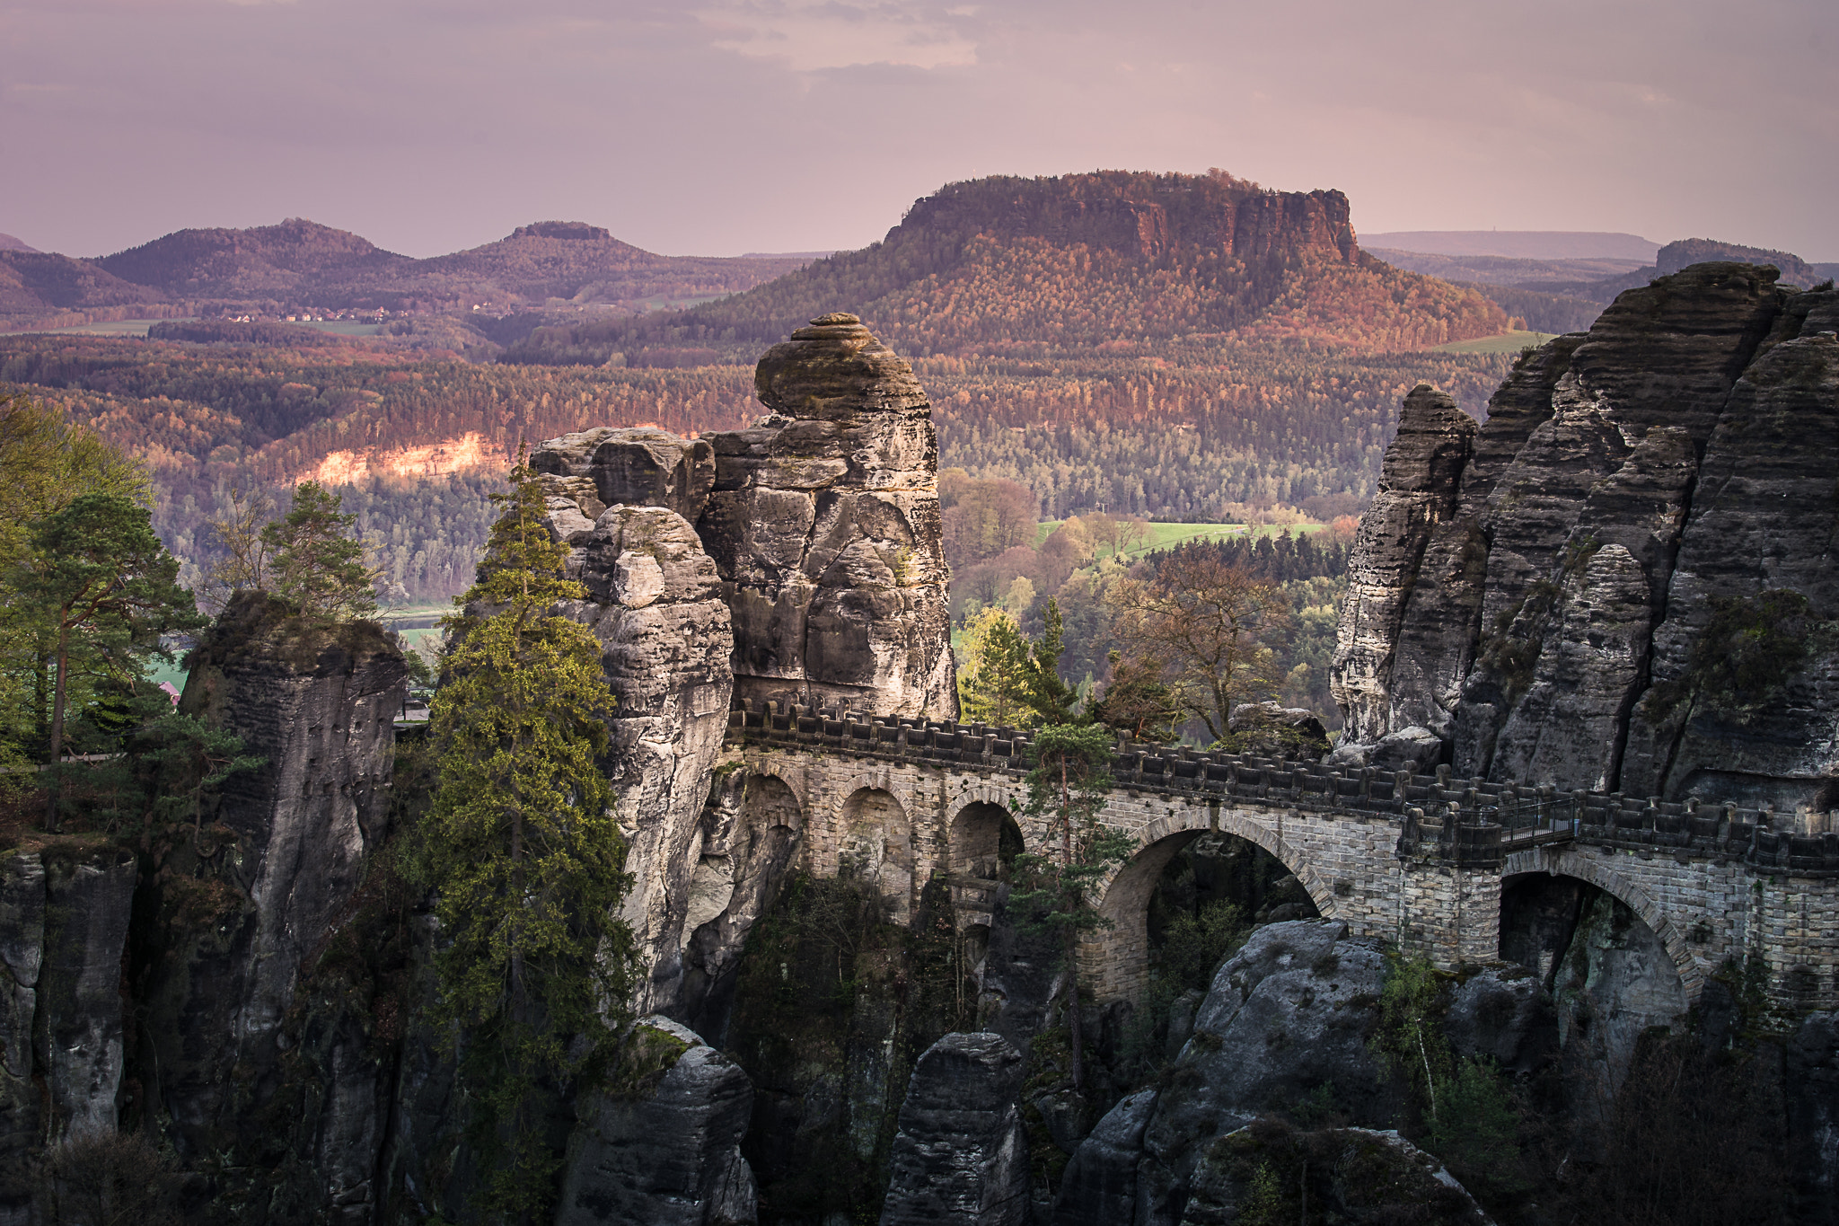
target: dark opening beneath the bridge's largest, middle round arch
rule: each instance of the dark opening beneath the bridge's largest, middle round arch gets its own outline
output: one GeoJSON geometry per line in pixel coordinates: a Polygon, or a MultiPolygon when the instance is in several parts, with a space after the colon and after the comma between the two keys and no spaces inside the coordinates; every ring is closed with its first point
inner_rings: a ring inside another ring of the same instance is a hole
{"type": "Polygon", "coordinates": [[[1120,1051],[1133,1073],[1186,1042],[1214,972],[1252,926],[1320,912],[1274,855],[1225,831],[1181,831],[1149,844],[1111,882],[1109,996],[1129,1004],[1120,1051]]]}

